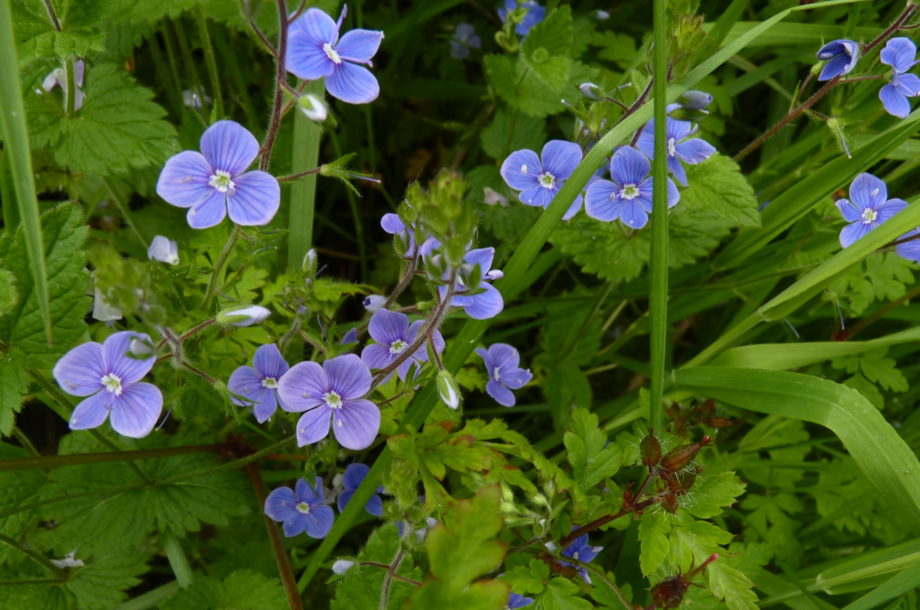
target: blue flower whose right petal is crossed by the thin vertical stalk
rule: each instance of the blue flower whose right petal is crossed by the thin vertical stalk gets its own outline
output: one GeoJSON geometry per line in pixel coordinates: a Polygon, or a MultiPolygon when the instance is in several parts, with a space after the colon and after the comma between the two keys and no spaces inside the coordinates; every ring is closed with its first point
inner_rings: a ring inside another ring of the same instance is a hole
{"type": "MultiPolygon", "coordinates": [[[[585,195],[585,213],[591,218],[611,222],[620,219],[633,229],[641,229],[652,213],[651,163],[631,146],[613,153],[610,160],[610,180],[598,180],[585,195]]],[[[668,178],[668,207],[680,199],[674,182],[668,178]]]]}

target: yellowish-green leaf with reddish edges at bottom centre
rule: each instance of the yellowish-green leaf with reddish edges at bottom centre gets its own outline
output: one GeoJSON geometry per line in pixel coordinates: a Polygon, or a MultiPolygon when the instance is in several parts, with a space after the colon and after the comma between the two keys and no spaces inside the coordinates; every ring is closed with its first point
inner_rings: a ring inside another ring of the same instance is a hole
{"type": "MultiPolygon", "coordinates": [[[[501,565],[505,545],[495,540],[502,526],[499,512],[501,492],[497,485],[483,487],[469,500],[460,500],[451,518],[444,525],[435,526],[425,540],[431,576],[412,596],[412,607],[456,607],[453,599],[470,587],[470,583],[501,565]],[[424,600],[424,604],[421,603],[424,600]]],[[[491,600],[497,592],[504,597],[497,605],[472,606],[500,609],[507,601],[504,583],[477,583],[486,585],[475,597],[491,600]],[[496,585],[496,586],[493,586],[496,585]]],[[[491,602],[489,602],[491,603],[491,602]]]]}

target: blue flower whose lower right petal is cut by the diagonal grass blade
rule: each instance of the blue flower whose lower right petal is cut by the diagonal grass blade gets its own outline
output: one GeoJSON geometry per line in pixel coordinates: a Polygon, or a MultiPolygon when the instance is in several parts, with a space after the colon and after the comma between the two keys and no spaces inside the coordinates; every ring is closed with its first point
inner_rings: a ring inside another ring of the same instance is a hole
{"type": "MultiPolygon", "coordinates": [[[[574,142],[550,140],[540,156],[532,150],[516,150],[502,163],[501,175],[516,191],[525,205],[546,208],[565,181],[581,162],[581,148],[574,142]]],[[[581,208],[581,195],[569,206],[563,220],[568,220],[581,208]]]]}

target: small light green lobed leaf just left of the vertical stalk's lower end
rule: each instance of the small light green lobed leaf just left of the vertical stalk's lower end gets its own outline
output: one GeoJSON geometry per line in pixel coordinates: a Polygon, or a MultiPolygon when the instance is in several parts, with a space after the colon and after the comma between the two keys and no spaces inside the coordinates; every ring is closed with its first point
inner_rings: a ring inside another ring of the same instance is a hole
{"type": "Polygon", "coordinates": [[[587,409],[572,413],[571,430],[563,436],[575,481],[585,491],[613,476],[623,463],[619,445],[607,447],[607,435],[601,431],[597,415],[587,409]]]}

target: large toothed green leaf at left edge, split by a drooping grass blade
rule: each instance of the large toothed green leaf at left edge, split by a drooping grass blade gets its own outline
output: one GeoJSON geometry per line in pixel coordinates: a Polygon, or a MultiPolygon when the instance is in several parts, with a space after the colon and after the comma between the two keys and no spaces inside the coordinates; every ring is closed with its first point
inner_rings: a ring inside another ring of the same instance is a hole
{"type": "Polygon", "coordinates": [[[86,298],[83,242],[87,228],[77,206],[65,204],[42,216],[45,261],[51,297],[51,324],[55,345],[45,340],[39,294],[29,273],[30,260],[22,228],[15,238],[0,238],[0,264],[18,278],[19,303],[0,317],[0,342],[20,366],[50,368],[83,334],[86,298]]]}

